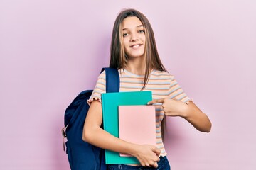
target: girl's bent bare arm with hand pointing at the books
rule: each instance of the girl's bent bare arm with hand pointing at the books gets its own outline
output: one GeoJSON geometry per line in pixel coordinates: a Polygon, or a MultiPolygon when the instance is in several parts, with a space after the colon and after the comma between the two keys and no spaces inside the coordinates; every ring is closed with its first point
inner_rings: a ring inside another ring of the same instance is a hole
{"type": "Polygon", "coordinates": [[[193,101],[187,104],[170,98],[161,98],[150,101],[148,104],[162,103],[164,113],[168,116],[181,116],[188,120],[197,130],[210,132],[211,123],[208,116],[203,113],[193,101]]]}

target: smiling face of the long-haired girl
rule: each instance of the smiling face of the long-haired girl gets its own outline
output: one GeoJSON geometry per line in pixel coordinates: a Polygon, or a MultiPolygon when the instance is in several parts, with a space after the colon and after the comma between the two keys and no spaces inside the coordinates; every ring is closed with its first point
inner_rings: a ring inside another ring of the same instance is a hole
{"type": "Polygon", "coordinates": [[[122,36],[124,52],[129,59],[144,55],[146,38],[144,26],[139,18],[130,16],[122,21],[122,36]]]}

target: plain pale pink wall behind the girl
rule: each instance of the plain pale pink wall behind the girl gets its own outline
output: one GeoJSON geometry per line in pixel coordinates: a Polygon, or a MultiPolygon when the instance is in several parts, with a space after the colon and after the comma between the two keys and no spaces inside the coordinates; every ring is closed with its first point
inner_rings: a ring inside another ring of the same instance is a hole
{"type": "Polygon", "coordinates": [[[206,134],[169,118],[172,169],[256,169],[254,0],[1,0],[0,169],[69,169],[65,108],[108,65],[128,7],[149,18],[161,60],[213,123],[206,134]]]}

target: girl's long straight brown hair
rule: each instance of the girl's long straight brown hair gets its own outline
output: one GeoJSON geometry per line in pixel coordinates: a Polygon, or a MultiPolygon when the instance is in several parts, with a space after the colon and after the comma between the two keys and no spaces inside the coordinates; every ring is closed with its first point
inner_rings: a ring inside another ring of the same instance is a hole
{"type": "Polygon", "coordinates": [[[110,67],[121,69],[127,66],[128,57],[124,52],[124,45],[122,45],[122,21],[124,18],[129,16],[136,16],[142,22],[145,31],[146,43],[145,43],[145,58],[146,58],[146,69],[144,74],[144,86],[146,87],[149,81],[149,72],[151,69],[159,71],[166,71],[164,65],[161,63],[159,54],[156,49],[156,41],[154,38],[154,32],[151,28],[149,20],[144,16],[143,13],[135,9],[126,9],[119,13],[116,20],[114,21],[114,27],[112,32],[112,41],[110,47],[110,67]]]}

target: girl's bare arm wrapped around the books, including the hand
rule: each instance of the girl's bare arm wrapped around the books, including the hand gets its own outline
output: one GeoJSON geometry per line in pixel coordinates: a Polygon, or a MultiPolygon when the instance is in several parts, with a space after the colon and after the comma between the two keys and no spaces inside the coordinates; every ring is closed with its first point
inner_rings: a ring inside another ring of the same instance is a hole
{"type": "Polygon", "coordinates": [[[152,145],[136,145],[124,140],[114,137],[106,132],[100,125],[102,124],[102,106],[100,101],[92,101],[85,125],[82,132],[82,140],[100,147],[102,149],[109,149],[114,152],[124,154],[131,154],[136,157],[142,166],[158,166],[158,155],[160,149],[152,145]]]}

